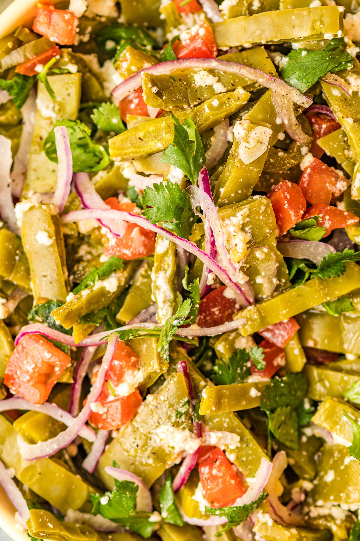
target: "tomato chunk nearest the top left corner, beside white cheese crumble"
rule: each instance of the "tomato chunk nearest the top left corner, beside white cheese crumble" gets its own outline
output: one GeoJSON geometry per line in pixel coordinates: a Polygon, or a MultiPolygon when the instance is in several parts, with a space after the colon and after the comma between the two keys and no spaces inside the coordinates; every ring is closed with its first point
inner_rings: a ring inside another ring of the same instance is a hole
{"type": "Polygon", "coordinates": [[[78,18],[67,9],[55,9],[50,4],[36,4],[34,32],[60,45],[72,45],[78,28],[78,18]]]}

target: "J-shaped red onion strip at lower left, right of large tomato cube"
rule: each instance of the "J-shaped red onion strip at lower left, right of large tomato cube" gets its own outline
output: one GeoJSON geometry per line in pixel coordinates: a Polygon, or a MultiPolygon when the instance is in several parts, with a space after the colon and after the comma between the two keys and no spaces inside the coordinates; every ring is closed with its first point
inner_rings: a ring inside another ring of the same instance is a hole
{"type": "Polygon", "coordinates": [[[50,457],[56,452],[60,451],[64,447],[70,445],[74,438],[78,435],[81,428],[84,427],[89,415],[91,413],[91,404],[97,401],[101,391],[103,390],[103,385],[105,382],[106,371],[110,366],[110,362],[113,358],[116,345],[118,342],[118,335],[112,333],[108,339],[108,344],[106,348],[103,361],[101,362],[100,369],[96,378],[94,385],[91,387],[91,391],[87,397],[87,401],[79,415],[74,418],[74,421],[71,426],[66,428],[64,432],[60,432],[55,438],[51,438],[47,441],[42,441],[37,444],[28,444],[21,437],[19,437],[18,444],[21,456],[24,460],[37,460],[39,458],[50,457]]]}

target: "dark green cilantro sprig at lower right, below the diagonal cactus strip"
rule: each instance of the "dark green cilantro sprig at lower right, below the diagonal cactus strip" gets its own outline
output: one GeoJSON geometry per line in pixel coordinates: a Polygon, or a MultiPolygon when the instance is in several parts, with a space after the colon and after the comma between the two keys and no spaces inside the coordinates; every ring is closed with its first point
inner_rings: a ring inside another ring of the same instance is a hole
{"type": "Polygon", "coordinates": [[[312,407],[310,403],[304,404],[307,391],[308,384],[301,374],[270,380],[260,403],[260,409],[268,416],[269,439],[272,434],[290,449],[298,448],[299,426],[308,422],[305,412],[309,414],[312,407]]]}

